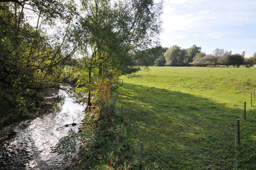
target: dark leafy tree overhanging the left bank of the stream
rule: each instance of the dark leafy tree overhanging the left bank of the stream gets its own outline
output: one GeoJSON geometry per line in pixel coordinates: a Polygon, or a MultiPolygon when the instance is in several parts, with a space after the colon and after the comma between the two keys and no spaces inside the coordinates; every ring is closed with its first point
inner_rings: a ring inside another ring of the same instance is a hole
{"type": "Polygon", "coordinates": [[[42,103],[42,92],[63,81],[75,51],[68,46],[69,27],[54,43],[40,28],[57,19],[68,25],[71,7],[68,1],[0,1],[0,118],[23,118],[42,103]]]}

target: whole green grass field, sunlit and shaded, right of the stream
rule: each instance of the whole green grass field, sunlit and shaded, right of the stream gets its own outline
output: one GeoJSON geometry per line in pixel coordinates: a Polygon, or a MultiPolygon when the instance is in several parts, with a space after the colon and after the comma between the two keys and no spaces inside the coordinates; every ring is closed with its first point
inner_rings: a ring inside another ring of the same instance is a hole
{"type": "Polygon", "coordinates": [[[118,105],[143,141],[145,169],[233,169],[234,160],[237,169],[256,169],[254,67],[149,67],[121,80],[118,105]]]}

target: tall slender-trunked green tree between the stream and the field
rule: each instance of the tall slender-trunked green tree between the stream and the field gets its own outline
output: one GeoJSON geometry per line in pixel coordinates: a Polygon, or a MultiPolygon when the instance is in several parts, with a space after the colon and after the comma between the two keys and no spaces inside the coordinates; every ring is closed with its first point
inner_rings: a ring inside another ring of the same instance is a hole
{"type": "Polygon", "coordinates": [[[77,91],[91,93],[99,82],[134,70],[132,52],[148,46],[160,32],[161,3],[153,1],[81,1],[74,35],[83,56],[77,91]]]}

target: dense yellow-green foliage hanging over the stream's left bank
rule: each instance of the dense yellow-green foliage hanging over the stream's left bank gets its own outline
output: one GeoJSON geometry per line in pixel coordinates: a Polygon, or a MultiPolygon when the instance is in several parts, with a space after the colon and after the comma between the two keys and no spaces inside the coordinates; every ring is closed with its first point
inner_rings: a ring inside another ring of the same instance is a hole
{"type": "MultiPolygon", "coordinates": [[[[0,3],[0,107],[4,109],[0,118],[5,117],[4,123],[35,114],[43,96],[70,75],[64,70],[70,60],[70,53],[63,50],[66,43],[53,46],[41,30],[26,22],[24,5],[28,4],[0,3]]],[[[42,15],[50,13],[46,8],[40,8],[42,15]]]]}

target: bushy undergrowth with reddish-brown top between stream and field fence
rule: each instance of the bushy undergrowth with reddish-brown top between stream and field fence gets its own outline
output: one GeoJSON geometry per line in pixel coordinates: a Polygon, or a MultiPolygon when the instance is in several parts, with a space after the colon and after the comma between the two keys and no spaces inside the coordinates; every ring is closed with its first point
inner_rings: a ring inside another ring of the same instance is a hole
{"type": "Polygon", "coordinates": [[[75,141],[80,140],[80,154],[74,163],[76,169],[116,169],[133,167],[134,155],[138,155],[128,131],[129,123],[121,123],[116,99],[112,94],[114,83],[101,83],[89,107],[79,135],[69,133],[59,140],[53,151],[69,158],[74,152],[75,141]],[[136,153],[136,154],[134,154],[136,153]]]}

